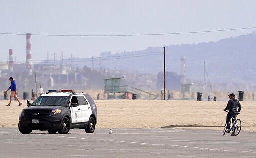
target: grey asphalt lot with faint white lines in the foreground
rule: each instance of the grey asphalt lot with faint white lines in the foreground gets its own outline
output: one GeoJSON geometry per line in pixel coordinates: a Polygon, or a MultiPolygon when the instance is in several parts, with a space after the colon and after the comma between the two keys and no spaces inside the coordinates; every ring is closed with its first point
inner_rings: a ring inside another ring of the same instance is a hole
{"type": "Polygon", "coordinates": [[[96,128],[68,134],[0,128],[0,157],[256,157],[256,133],[176,128],[96,128]]]}

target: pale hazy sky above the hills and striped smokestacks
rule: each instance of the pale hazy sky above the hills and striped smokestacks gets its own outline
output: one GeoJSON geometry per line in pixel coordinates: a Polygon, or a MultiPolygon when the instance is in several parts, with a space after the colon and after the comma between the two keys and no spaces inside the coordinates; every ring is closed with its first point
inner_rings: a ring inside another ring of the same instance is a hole
{"type": "Polygon", "coordinates": [[[32,35],[32,60],[99,57],[172,44],[218,41],[256,29],[147,36],[135,35],[256,27],[256,0],[0,0],[0,61],[13,49],[26,60],[26,37],[32,35]]]}

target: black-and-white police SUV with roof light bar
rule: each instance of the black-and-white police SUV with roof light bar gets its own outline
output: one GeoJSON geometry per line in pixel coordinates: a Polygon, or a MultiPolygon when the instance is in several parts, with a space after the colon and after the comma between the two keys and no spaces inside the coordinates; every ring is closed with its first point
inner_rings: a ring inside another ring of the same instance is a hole
{"type": "Polygon", "coordinates": [[[97,124],[97,106],[90,95],[73,90],[49,90],[19,115],[18,129],[22,134],[32,130],[47,130],[67,134],[70,129],[85,129],[93,133],[97,124]]]}

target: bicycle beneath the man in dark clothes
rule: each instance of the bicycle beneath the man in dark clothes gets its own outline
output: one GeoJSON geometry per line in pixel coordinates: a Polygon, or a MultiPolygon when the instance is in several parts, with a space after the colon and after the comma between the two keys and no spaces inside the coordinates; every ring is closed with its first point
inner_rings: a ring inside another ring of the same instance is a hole
{"type": "MultiPolygon", "coordinates": [[[[228,112],[228,111],[225,111],[225,112],[228,112]]],[[[232,134],[235,135],[235,136],[237,136],[240,133],[241,129],[242,129],[242,122],[241,122],[241,120],[240,119],[236,119],[238,114],[239,113],[237,113],[234,118],[232,117],[230,119],[230,127],[232,129],[232,134]],[[231,120],[232,120],[233,123],[231,123],[231,120]]],[[[227,130],[227,124],[225,124],[225,126],[224,126],[223,135],[225,135],[226,130],[227,130]]]]}

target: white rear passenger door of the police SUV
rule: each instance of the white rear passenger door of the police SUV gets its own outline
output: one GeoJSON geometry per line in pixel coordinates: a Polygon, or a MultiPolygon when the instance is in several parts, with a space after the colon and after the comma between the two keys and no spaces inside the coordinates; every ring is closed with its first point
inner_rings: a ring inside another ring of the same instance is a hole
{"type": "Polygon", "coordinates": [[[81,106],[81,115],[82,115],[82,122],[89,121],[91,115],[91,107],[88,101],[85,99],[84,95],[77,96],[79,105],[81,106]]]}

